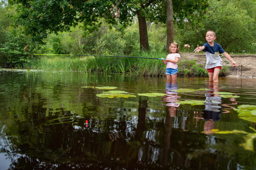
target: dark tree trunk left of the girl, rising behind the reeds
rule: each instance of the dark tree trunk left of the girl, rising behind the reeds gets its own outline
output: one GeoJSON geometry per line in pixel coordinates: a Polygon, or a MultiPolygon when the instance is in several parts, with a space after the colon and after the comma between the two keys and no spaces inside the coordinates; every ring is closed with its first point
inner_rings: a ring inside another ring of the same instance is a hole
{"type": "Polygon", "coordinates": [[[147,23],[146,18],[142,17],[140,14],[140,10],[137,10],[138,21],[139,21],[139,30],[140,30],[140,51],[147,50],[149,51],[148,44],[148,31],[147,31],[147,23]]]}

